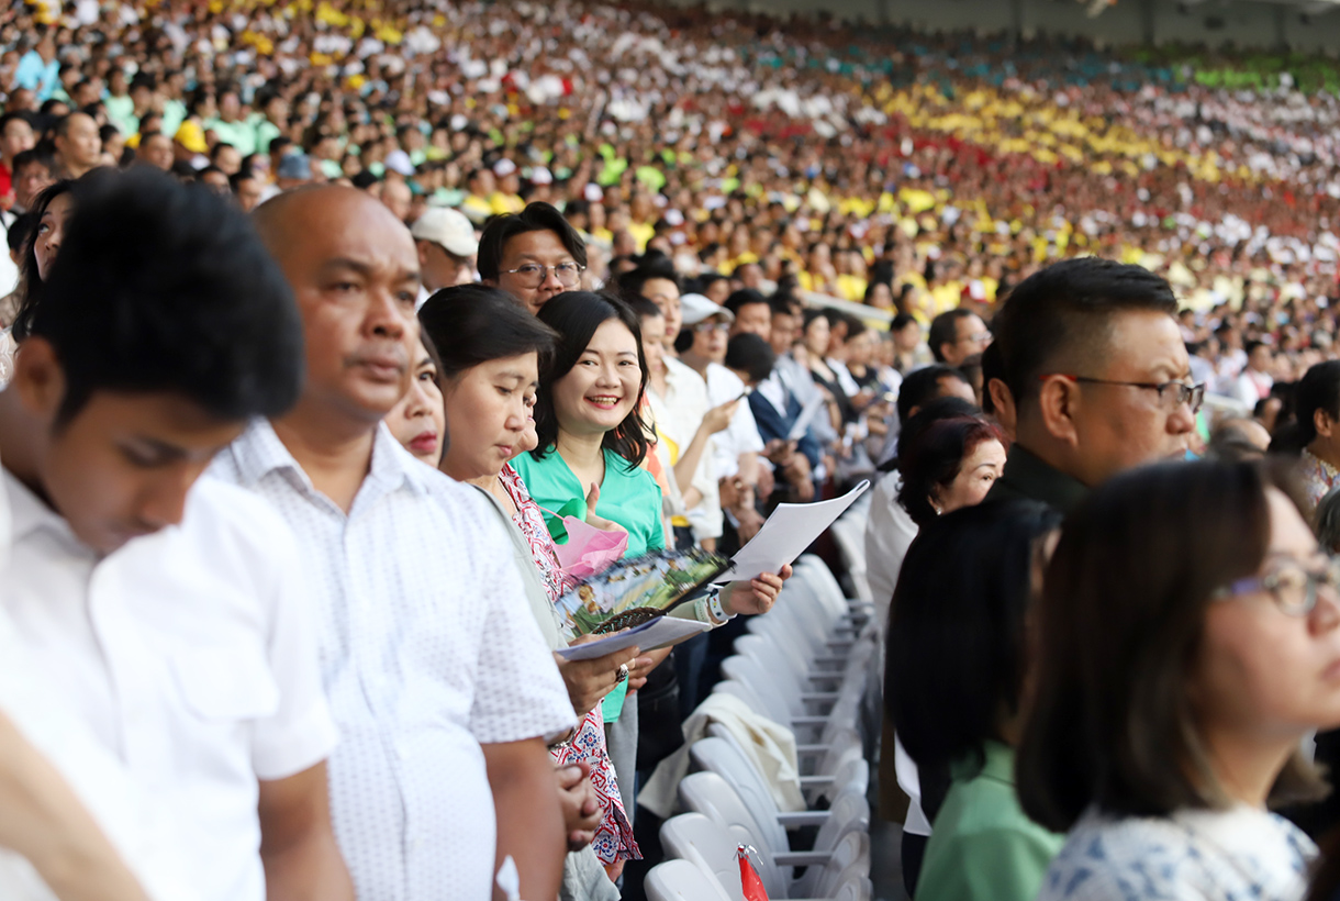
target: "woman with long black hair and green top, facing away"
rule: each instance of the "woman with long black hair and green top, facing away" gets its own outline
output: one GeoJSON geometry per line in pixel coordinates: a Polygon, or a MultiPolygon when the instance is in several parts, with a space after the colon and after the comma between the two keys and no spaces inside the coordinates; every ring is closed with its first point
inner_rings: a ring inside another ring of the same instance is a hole
{"type": "Polygon", "coordinates": [[[915,901],[1033,901],[1064,842],[1014,790],[1026,611],[1059,527],[1036,501],[967,507],[922,528],[903,562],[884,701],[931,818],[915,901]]]}

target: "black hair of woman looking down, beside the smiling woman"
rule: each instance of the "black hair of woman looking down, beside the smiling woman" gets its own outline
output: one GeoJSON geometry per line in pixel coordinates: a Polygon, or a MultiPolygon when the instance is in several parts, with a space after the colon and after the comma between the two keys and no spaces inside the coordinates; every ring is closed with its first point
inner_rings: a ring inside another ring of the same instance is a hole
{"type": "Polygon", "coordinates": [[[442,381],[494,359],[535,353],[543,373],[559,335],[507,291],[484,284],[442,288],[418,312],[441,365],[442,381]]]}

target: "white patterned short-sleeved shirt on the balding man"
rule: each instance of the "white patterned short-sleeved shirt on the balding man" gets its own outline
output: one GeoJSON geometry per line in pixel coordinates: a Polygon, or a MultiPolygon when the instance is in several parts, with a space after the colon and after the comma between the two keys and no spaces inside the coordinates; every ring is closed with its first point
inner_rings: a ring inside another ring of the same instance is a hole
{"type": "Polygon", "coordinates": [[[264,497],[297,538],[342,736],[331,815],[358,896],[489,897],[496,821],[480,744],[575,725],[497,515],[385,425],[348,515],[264,421],[210,475],[264,497]]]}

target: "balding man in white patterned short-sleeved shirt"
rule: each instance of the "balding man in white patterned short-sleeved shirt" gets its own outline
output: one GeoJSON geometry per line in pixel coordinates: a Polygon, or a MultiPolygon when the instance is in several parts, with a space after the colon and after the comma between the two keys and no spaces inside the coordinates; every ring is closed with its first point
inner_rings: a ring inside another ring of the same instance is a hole
{"type": "Polygon", "coordinates": [[[545,745],[572,705],[488,501],[382,425],[417,350],[410,232],[339,186],[280,194],[256,221],[297,296],[307,383],[213,472],[268,500],[308,562],[358,894],[482,900],[511,857],[521,897],[553,898],[567,841],[545,745]]]}

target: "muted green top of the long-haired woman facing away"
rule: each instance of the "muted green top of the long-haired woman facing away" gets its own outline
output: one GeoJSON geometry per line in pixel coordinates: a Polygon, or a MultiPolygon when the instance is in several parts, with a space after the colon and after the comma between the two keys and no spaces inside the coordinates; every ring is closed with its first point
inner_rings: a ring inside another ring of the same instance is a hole
{"type": "Polygon", "coordinates": [[[915,901],[1033,901],[1065,843],[1024,815],[1014,791],[1014,751],[985,745],[980,771],[954,767],[935,815],[915,901]]]}

